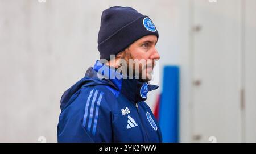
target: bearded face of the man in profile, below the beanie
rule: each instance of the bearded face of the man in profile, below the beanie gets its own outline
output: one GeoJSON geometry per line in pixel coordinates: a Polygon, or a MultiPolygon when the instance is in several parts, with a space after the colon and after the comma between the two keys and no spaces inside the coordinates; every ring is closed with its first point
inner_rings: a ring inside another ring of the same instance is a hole
{"type": "Polygon", "coordinates": [[[139,77],[144,82],[151,80],[155,60],[160,59],[155,48],[156,43],[155,35],[144,36],[125,49],[121,56],[121,59],[125,59],[129,65],[127,71],[133,71],[133,76],[139,77]]]}

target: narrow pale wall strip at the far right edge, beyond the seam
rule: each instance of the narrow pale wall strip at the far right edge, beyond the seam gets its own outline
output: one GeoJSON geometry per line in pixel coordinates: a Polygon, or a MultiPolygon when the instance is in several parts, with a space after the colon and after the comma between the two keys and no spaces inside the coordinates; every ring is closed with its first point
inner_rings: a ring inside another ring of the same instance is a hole
{"type": "Polygon", "coordinates": [[[245,135],[256,142],[256,1],[245,1],[245,135]]]}

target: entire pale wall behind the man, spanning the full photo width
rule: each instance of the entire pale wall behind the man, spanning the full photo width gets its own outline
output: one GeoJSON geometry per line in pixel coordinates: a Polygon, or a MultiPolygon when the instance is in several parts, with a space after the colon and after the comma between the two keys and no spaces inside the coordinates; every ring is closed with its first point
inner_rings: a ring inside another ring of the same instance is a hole
{"type": "Polygon", "coordinates": [[[255,0],[0,0],[0,142],[57,141],[60,97],[100,57],[101,13],[116,5],[158,28],[153,111],[163,68],[179,68],[177,141],[256,141],[255,0]]]}

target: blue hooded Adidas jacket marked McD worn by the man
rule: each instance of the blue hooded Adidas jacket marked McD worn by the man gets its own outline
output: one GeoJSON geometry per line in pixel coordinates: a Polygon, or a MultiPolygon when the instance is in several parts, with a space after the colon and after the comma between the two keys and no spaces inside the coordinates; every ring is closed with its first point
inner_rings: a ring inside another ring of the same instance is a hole
{"type": "Polygon", "coordinates": [[[120,76],[97,60],[65,91],[58,142],[162,142],[159,124],[144,102],[147,92],[158,86],[120,76]]]}

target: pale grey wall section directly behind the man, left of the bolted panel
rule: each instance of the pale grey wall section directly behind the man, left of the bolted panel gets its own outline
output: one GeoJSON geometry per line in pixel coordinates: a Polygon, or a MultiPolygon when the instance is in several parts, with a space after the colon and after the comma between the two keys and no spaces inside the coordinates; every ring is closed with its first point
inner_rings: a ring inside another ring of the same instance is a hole
{"type": "MultiPolygon", "coordinates": [[[[115,5],[150,16],[160,67],[177,63],[176,1],[0,0],[1,142],[56,141],[60,97],[98,59],[101,13],[115,5]]],[[[152,109],[159,91],[148,98],[152,109]]]]}

